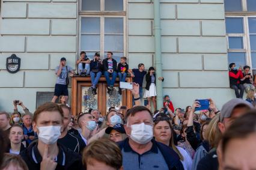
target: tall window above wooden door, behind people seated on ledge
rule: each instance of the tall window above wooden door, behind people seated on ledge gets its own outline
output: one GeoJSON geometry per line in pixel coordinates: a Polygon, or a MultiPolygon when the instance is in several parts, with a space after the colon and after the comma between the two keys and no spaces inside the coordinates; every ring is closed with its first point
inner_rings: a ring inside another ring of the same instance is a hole
{"type": "Polygon", "coordinates": [[[80,0],[79,50],[91,59],[95,52],[106,58],[108,51],[118,62],[126,56],[126,11],[123,0],[80,0]]]}

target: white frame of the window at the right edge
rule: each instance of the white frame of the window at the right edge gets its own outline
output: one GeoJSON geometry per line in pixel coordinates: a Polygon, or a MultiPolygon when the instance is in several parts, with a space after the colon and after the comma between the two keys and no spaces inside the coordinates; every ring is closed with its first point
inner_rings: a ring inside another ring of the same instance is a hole
{"type": "MultiPolygon", "coordinates": [[[[251,50],[250,43],[250,34],[249,34],[249,22],[248,19],[251,17],[256,18],[256,12],[254,15],[226,15],[225,17],[242,17],[243,18],[243,34],[228,34],[226,33],[227,44],[228,44],[228,52],[245,52],[245,64],[251,67],[251,71],[256,70],[256,68],[252,68],[252,58],[251,53],[256,52],[256,50],[251,50]],[[229,49],[228,37],[243,37],[243,47],[244,49],[229,49]]],[[[256,34],[252,34],[256,35],[256,34]]]]}

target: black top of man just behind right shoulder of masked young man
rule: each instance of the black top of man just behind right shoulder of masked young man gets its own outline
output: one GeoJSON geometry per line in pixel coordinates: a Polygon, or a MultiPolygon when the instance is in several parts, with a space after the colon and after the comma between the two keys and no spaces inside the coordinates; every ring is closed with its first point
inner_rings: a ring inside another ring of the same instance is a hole
{"type": "Polygon", "coordinates": [[[82,154],[83,149],[86,147],[82,138],[71,133],[67,133],[64,138],[58,139],[58,143],[80,154],[82,154]]]}

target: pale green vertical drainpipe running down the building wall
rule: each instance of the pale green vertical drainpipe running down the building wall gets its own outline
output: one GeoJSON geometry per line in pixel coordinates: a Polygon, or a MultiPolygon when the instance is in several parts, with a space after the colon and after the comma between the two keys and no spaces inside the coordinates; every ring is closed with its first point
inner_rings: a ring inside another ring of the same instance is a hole
{"type": "Polygon", "coordinates": [[[161,47],[161,26],[160,26],[160,2],[154,0],[154,66],[156,67],[156,105],[157,109],[163,107],[163,83],[158,80],[162,77],[162,47],[161,47]]]}

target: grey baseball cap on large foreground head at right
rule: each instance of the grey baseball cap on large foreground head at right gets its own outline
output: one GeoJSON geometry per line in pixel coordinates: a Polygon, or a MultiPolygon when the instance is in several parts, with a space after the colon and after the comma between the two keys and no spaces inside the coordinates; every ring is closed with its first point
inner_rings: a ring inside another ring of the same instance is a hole
{"type": "Polygon", "coordinates": [[[252,104],[247,102],[246,100],[243,100],[243,99],[232,99],[232,100],[228,101],[227,103],[225,103],[222,106],[222,108],[221,108],[221,120],[220,121],[222,122],[224,120],[224,118],[230,118],[231,114],[232,114],[232,111],[238,105],[248,106],[251,109],[254,108],[254,106],[252,106],[252,104]]]}

